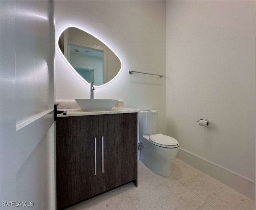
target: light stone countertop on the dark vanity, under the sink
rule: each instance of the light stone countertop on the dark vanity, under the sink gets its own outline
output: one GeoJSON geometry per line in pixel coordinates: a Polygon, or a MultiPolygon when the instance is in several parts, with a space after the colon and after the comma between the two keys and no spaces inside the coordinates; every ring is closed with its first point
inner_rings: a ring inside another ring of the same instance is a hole
{"type": "Polygon", "coordinates": [[[81,109],[58,109],[67,111],[66,115],[57,114],[57,117],[70,117],[70,116],[85,116],[85,115],[99,115],[99,114],[122,114],[122,113],[134,113],[140,112],[138,109],[126,108],[126,107],[114,107],[109,111],[92,111],[82,112],[81,109]]]}

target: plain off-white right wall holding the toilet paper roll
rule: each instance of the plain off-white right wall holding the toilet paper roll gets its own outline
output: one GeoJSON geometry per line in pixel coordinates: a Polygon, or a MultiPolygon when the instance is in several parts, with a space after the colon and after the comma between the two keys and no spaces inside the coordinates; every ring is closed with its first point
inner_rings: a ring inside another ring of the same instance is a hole
{"type": "Polygon", "coordinates": [[[189,158],[197,157],[248,185],[255,165],[255,5],[166,3],[167,134],[178,139],[185,161],[196,165],[189,158]],[[199,126],[200,118],[210,126],[199,126]]]}

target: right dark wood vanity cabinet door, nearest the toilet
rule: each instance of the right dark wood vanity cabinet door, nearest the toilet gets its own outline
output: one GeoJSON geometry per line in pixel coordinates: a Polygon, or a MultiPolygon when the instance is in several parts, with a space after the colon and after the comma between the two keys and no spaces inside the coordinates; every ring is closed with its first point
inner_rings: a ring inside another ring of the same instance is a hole
{"type": "Polygon", "coordinates": [[[100,192],[130,181],[137,186],[137,113],[99,115],[99,134],[100,192]]]}

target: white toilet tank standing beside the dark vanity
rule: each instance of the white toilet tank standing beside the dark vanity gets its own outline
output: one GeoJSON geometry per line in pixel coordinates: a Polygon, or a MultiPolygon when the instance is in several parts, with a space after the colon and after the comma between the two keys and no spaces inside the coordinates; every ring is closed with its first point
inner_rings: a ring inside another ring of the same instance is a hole
{"type": "Polygon", "coordinates": [[[157,110],[139,112],[140,133],[150,135],[157,133],[157,110]]]}

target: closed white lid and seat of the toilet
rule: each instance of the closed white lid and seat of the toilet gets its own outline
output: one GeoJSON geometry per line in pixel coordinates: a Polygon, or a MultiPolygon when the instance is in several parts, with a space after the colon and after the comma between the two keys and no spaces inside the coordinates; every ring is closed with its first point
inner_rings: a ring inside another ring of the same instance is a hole
{"type": "Polygon", "coordinates": [[[160,147],[176,148],[179,146],[179,143],[176,139],[164,134],[150,135],[149,140],[154,145],[157,145],[160,147]]]}

